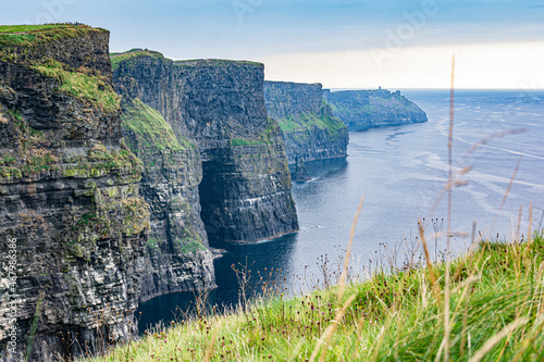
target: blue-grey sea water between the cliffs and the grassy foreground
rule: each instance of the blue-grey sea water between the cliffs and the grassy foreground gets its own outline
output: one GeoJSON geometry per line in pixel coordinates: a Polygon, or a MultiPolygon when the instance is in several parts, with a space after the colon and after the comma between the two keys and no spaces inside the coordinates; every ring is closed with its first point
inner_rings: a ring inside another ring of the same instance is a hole
{"type": "MultiPolygon", "coordinates": [[[[308,164],[312,179],[293,186],[299,232],[256,245],[212,240],[213,247],[227,250],[215,260],[219,287],[210,294],[212,304],[238,301],[233,264],[248,265],[254,280],[258,271],[263,275],[264,269],[274,274],[281,270],[287,294],[322,285],[323,269],[326,274],[338,269],[361,197],[364,204],[350,259],[354,275],[363,276],[380,260],[387,263],[387,255],[401,260],[409,249],[406,245],[416,241],[419,219],[425,217],[426,232],[433,232],[431,219],[438,219],[434,226],[445,229],[447,198],[440,197],[448,179],[449,91],[403,95],[428,113],[429,122],[350,133],[346,160],[308,164]]],[[[474,222],[482,235],[498,233],[502,238],[518,229],[527,235],[531,205],[533,227],[542,222],[543,138],[544,91],[456,91],[453,164],[456,172],[470,171],[456,178],[463,185],[453,190],[452,230],[458,232],[452,238],[454,252],[467,250],[470,237],[459,235],[470,235],[474,222]]],[[[430,237],[431,248],[434,242],[430,237]]],[[[443,250],[446,238],[438,239],[437,249],[443,250]]],[[[193,294],[182,292],[143,303],[140,330],[161,320],[168,324],[176,308],[186,309],[193,300],[193,294]]]]}

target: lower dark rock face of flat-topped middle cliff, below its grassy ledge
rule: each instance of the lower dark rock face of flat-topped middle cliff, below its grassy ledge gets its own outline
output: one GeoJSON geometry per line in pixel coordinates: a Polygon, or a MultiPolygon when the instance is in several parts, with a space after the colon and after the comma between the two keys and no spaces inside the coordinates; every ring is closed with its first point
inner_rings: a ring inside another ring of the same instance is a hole
{"type": "Polygon", "coordinates": [[[273,120],[259,138],[232,139],[208,157],[200,197],[211,238],[249,242],[298,229],[284,141],[273,120]]]}

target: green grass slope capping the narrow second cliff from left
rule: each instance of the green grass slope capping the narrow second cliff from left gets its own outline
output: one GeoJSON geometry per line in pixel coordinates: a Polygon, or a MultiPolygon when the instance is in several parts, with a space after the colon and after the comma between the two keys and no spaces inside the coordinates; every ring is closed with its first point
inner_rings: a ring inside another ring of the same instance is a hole
{"type": "Polygon", "coordinates": [[[186,139],[178,139],[164,117],[139,99],[123,110],[121,126],[127,137],[128,147],[134,152],[185,150],[194,147],[186,139]]]}

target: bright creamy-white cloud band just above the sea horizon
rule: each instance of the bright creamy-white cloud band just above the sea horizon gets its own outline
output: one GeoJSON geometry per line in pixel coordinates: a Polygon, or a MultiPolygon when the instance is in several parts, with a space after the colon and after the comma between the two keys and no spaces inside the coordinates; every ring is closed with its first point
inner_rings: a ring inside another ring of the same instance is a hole
{"type": "Polygon", "coordinates": [[[267,79],[322,83],[326,88],[544,88],[544,42],[457,45],[258,59],[267,79]]]}

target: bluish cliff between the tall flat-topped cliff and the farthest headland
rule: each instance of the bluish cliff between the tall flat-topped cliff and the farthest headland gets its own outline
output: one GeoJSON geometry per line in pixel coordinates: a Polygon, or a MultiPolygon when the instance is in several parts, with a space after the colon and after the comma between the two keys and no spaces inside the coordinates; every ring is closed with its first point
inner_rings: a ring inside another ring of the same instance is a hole
{"type": "Polygon", "coordinates": [[[264,82],[264,103],[282,128],[289,164],[347,155],[347,127],[323,100],[320,84],[264,82]]]}

